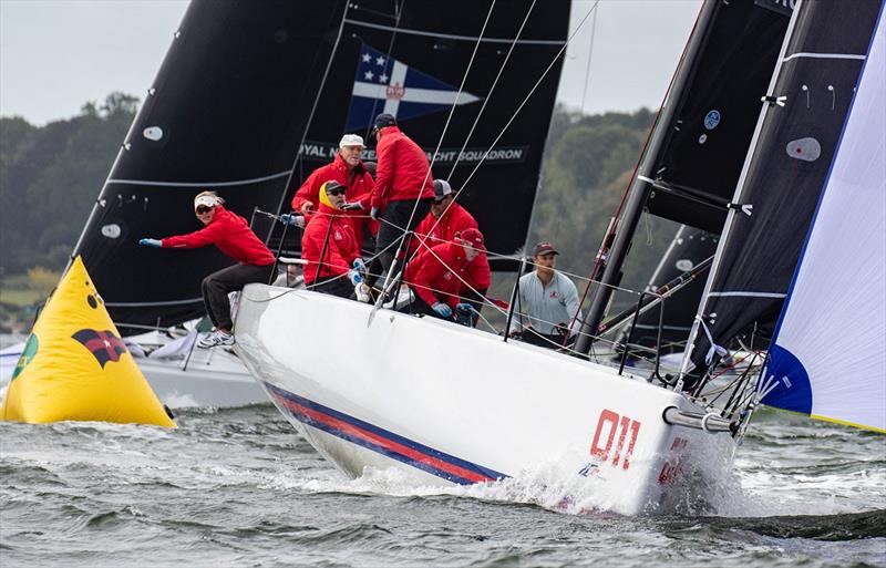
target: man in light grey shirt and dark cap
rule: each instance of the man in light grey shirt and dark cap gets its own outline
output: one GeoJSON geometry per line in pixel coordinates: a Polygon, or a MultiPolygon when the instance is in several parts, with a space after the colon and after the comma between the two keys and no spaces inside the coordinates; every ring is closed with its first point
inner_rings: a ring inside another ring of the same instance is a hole
{"type": "Polygon", "coordinates": [[[536,269],[519,279],[512,338],[549,349],[571,345],[575,341],[575,329],[581,321],[578,291],[568,277],[554,269],[557,255],[557,249],[547,241],[533,249],[536,269]],[[521,311],[526,312],[525,318],[521,311]]]}

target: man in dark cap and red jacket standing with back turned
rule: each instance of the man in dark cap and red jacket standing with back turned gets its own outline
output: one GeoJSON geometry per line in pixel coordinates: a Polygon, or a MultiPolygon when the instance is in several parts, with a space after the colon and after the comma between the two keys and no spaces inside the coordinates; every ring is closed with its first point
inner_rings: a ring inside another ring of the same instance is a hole
{"type": "Polygon", "coordinates": [[[391,245],[404,230],[414,229],[431,209],[434,179],[424,151],[396,127],[392,115],[378,115],[372,127],[379,164],[370,216],[382,220],[375,238],[377,259],[370,268],[370,278],[374,281],[382,269],[391,268],[398,248],[391,245]]]}

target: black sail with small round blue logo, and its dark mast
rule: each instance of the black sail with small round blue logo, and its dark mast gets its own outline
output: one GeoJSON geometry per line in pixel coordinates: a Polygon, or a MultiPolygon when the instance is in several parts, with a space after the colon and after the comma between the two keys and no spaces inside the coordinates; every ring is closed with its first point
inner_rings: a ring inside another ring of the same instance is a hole
{"type": "Polygon", "coordinates": [[[775,68],[790,10],[705,0],[632,180],[576,349],[588,352],[643,210],[719,234],[775,68]]]}

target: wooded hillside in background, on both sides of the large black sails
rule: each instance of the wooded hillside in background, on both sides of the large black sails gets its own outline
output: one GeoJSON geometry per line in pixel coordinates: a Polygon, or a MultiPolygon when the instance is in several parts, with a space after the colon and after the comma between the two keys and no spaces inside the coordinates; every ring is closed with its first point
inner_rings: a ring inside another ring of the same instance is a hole
{"type": "MultiPolygon", "coordinates": [[[[137,105],[134,96],[112,93],[44,126],[0,118],[0,276],[64,268],[137,105]]],[[[598,115],[556,109],[530,241],[553,240],[564,269],[590,271],[652,117],[645,109],[598,115]]],[[[629,265],[640,276],[626,285],[646,283],[673,229],[641,224],[629,265]]]]}

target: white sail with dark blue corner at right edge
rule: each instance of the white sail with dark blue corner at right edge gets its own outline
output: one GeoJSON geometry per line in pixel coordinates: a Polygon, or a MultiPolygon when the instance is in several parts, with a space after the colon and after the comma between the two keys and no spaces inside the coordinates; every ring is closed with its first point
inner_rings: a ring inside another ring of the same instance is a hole
{"type": "Polygon", "coordinates": [[[782,311],[765,404],[886,431],[886,37],[880,13],[782,311]]]}

